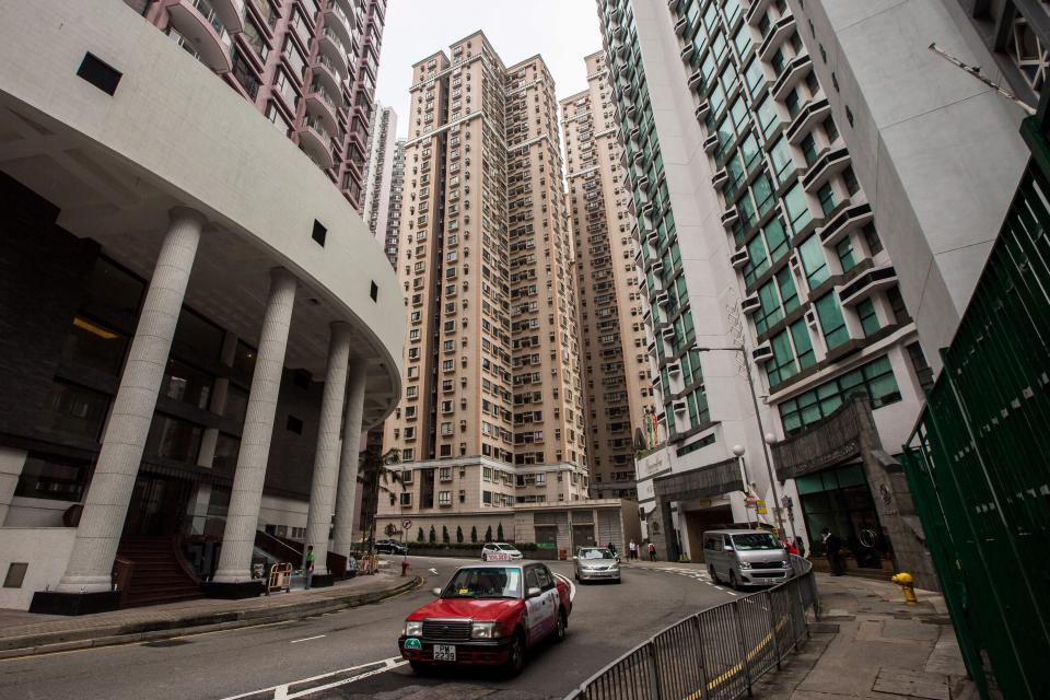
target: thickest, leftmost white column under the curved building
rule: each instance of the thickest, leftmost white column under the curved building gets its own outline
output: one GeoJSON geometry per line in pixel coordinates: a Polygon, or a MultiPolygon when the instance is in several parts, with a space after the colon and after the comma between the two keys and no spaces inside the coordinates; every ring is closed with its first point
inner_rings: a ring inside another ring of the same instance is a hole
{"type": "Polygon", "coordinates": [[[205,217],[192,209],[176,207],[171,211],[171,224],[142,303],[91,488],[84,500],[77,540],[66,575],[58,584],[59,592],[110,590],[113,560],[206,223],[205,217]]]}

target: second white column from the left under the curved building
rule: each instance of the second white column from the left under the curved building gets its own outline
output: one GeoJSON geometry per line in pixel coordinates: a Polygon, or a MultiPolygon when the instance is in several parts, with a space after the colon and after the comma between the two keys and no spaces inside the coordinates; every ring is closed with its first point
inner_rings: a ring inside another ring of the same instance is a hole
{"type": "Polygon", "coordinates": [[[215,583],[238,583],[252,578],[252,550],[259,524],[262,483],[294,304],[295,278],[288,270],[275,269],[270,276],[270,299],[259,335],[259,352],[252,375],[241,452],[222,535],[222,553],[213,579],[215,583]]]}

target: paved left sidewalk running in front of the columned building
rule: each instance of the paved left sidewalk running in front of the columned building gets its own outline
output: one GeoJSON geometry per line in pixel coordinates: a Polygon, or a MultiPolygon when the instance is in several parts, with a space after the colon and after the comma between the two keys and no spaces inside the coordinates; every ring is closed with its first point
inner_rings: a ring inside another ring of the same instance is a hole
{"type": "Polygon", "coordinates": [[[328,588],[300,588],[245,600],[202,598],[79,617],[0,609],[0,660],[301,619],[378,603],[421,582],[380,572],[328,588]]]}

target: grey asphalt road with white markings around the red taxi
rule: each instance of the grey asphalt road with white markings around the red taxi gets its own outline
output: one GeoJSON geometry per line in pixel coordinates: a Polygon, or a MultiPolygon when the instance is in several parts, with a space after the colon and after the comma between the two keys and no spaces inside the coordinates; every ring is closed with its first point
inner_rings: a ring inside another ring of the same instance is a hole
{"type": "MultiPolygon", "coordinates": [[[[0,661],[0,698],[561,698],[657,630],[733,595],[712,586],[705,574],[625,564],[620,585],[576,586],[564,643],[530,652],[517,678],[463,668],[418,677],[398,657],[401,622],[433,599],[430,588],[443,585],[464,560],[411,562],[417,573],[435,567],[439,574],[421,590],[378,605],[161,642],[0,661]]],[[[551,564],[555,573],[571,579],[569,565],[551,564]]]]}

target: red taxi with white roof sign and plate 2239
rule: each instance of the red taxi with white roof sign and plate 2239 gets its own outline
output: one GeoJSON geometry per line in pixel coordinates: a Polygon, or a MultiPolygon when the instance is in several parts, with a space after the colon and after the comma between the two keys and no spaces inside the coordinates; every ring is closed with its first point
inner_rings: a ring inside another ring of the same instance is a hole
{"type": "Polygon", "coordinates": [[[568,584],[540,563],[463,567],[434,595],[406,618],[397,640],[417,673],[459,664],[516,675],[527,649],[548,637],[564,639],[572,612],[568,584]]]}

